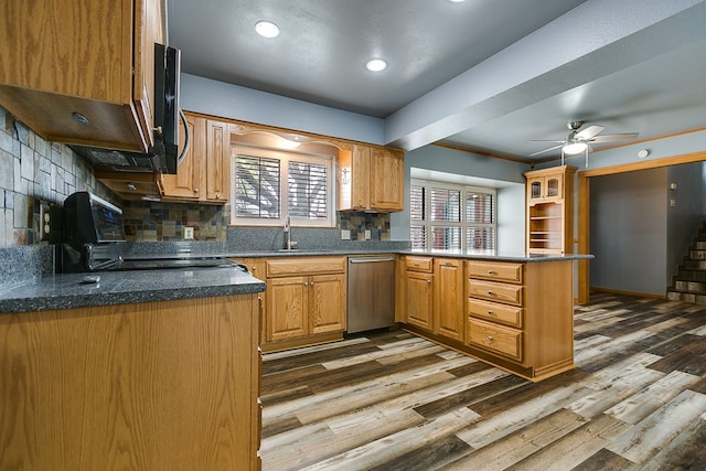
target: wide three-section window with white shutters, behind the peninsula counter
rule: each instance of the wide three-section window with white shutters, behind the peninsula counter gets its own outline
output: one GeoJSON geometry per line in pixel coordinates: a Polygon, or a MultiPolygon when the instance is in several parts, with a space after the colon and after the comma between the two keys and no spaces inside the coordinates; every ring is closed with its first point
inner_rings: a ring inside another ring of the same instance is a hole
{"type": "Polygon", "coordinates": [[[495,248],[495,190],[413,180],[409,188],[413,249],[495,248]]]}

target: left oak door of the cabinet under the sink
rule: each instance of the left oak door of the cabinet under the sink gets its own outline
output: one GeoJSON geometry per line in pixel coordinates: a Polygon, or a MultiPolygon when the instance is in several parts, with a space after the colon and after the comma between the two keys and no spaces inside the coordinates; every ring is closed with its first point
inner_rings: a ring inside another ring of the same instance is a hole
{"type": "Polygon", "coordinates": [[[267,281],[267,341],[308,334],[307,277],[272,278],[267,281]]]}

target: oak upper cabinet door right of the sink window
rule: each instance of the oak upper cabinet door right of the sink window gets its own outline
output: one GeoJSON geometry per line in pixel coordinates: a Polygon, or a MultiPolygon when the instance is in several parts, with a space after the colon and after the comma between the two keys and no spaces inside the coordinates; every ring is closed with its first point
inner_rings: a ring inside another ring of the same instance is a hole
{"type": "Polygon", "coordinates": [[[402,211],[404,207],[405,158],[402,151],[373,148],[371,160],[371,207],[402,211]]]}

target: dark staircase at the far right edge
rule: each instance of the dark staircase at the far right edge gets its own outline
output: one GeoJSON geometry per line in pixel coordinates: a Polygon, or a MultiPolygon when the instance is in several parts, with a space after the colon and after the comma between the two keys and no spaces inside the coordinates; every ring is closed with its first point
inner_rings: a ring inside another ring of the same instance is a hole
{"type": "Polygon", "coordinates": [[[671,301],[706,304],[706,221],[702,223],[688,255],[672,278],[672,286],[666,290],[671,301]]]}

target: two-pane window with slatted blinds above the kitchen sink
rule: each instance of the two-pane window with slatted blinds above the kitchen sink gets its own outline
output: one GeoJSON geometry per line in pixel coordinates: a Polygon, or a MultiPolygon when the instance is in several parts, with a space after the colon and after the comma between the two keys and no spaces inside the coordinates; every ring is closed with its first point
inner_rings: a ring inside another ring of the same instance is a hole
{"type": "Polygon", "coordinates": [[[333,226],[333,158],[237,146],[233,224],[333,226]]]}

